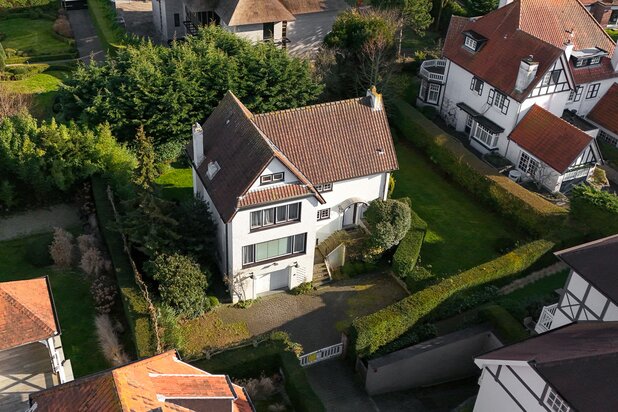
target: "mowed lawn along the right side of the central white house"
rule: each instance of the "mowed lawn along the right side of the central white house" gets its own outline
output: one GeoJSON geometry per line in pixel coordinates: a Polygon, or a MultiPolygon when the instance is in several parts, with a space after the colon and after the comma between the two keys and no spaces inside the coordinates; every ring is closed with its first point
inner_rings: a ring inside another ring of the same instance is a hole
{"type": "Polygon", "coordinates": [[[396,147],[393,198],[410,197],[412,208],[429,225],[421,265],[436,275],[455,274],[501,255],[521,233],[441,175],[407,143],[396,147]]]}

